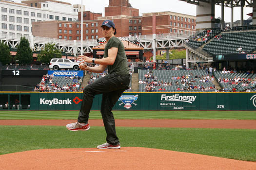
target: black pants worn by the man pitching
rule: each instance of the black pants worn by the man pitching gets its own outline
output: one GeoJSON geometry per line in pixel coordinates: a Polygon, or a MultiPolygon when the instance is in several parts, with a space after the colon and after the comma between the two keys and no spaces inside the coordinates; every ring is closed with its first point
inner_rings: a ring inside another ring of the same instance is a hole
{"type": "Polygon", "coordinates": [[[107,133],[106,140],[112,145],[119,144],[112,108],[122,93],[129,88],[130,80],[130,74],[111,74],[97,79],[83,89],[83,101],[79,112],[78,122],[88,123],[93,98],[97,94],[102,94],[100,113],[107,133]]]}

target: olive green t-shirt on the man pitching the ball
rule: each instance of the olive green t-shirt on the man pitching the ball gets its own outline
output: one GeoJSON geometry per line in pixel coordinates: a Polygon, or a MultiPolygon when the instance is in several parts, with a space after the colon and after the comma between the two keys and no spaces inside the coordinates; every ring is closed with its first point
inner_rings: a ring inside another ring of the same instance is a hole
{"type": "Polygon", "coordinates": [[[108,65],[108,73],[109,74],[116,73],[119,75],[129,74],[128,62],[125,55],[123,43],[119,38],[113,36],[108,40],[107,45],[105,46],[105,49],[104,49],[103,57],[105,58],[108,57],[108,50],[111,49],[112,47],[118,48],[118,54],[117,54],[115,63],[113,65],[108,65]]]}

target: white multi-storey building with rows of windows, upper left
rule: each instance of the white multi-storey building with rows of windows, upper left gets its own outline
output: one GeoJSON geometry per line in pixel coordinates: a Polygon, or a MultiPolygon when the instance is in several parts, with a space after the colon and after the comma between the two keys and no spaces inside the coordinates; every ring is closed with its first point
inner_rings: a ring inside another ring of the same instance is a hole
{"type": "Polygon", "coordinates": [[[49,20],[76,21],[79,6],[57,0],[0,0],[0,33],[32,35],[32,23],[49,20]]]}

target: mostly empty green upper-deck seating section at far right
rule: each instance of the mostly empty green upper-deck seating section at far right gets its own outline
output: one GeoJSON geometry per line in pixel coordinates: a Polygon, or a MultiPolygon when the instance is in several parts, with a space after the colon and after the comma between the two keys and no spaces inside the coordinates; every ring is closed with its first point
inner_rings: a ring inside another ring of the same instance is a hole
{"type": "Polygon", "coordinates": [[[214,55],[238,54],[237,48],[241,47],[244,53],[253,52],[256,49],[256,32],[227,32],[223,33],[221,39],[214,39],[203,47],[214,55]]]}

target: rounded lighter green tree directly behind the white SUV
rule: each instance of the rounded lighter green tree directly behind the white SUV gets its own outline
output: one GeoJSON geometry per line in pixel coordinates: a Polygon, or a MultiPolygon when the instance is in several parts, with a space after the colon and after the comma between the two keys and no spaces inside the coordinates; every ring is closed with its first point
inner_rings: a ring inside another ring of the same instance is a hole
{"type": "Polygon", "coordinates": [[[50,63],[52,58],[61,58],[62,53],[56,48],[55,44],[47,43],[44,49],[38,54],[38,61],[41,63],[50,63]]]}

